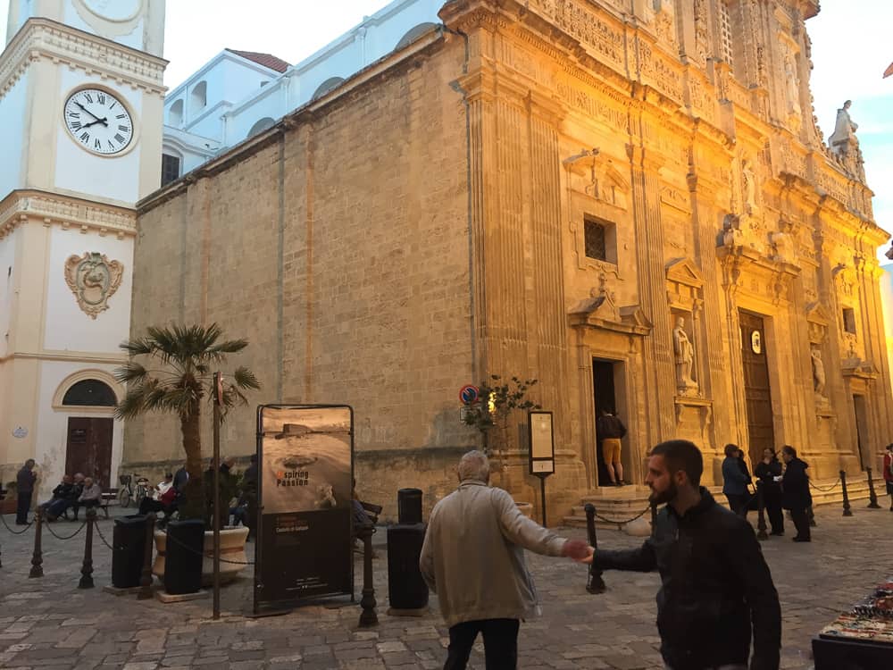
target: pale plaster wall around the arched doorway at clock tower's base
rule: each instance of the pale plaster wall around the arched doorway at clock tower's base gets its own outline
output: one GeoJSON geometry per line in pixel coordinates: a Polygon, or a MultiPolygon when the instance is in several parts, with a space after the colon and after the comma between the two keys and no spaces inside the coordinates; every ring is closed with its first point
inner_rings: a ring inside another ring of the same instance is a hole
{"type": "MultiPolygon", "coordinates": [[[[70,416],[111,417],[113,407],[108,411],[85,412],[82,407],[71,407],[65,410],[53,408],[53,397],[65,379],[80,370],[103,370],[113,373],[115,366],[111,364],[83,364],[68,361],[44,361],[40,369],[40,390],[38,393],[38,423],[34,426],[35,444],[37,448],[34,460],[37,461],[39,482],[39,501],[48,499],[62,475],[65,474],[65,451],[70,416]]],[[[111,481],[118,482],[118,466],[121,464],[121,447],[124,439],[124,426],[115,421],[112,430],[112,468],[111,481]]],[[[68,473],[74,474],[74,473],[68,473]]],[[[102,482],[103,488],[110,486],[102,482]]],[[[115,483],[114,486],[117,486],[115,483]]]]}

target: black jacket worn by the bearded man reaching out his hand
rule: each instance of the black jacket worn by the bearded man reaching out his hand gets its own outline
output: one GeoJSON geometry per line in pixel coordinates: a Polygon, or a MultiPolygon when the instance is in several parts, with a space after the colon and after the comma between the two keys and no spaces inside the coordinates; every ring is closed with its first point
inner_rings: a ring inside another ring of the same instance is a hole
{"type": "Polygon", "coordinates": [[[674,670],[747,663],[751,620],[751,670],[778,670],[781,608],[769,566],[750,524],[708,490],[683,516],[663,507],[639,549],[598,549],[595,557],[605,570],[660,572],[657,628],[674,670]]]}

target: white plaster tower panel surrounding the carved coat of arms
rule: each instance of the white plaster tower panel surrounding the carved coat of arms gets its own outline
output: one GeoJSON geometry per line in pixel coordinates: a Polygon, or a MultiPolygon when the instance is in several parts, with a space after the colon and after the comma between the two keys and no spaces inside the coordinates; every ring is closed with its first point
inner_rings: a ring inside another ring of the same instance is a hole
{"type": "Polygon", "coordinates": [[[118,345],[127,339],[130,328],[130,275],[133,272],[133,238],[118,239],[97,232],[81,233],[54,227],[50,235],[47,268],[46,331],[44,348],[118,355],[118,345]],[[109,299],[109,308],[91,319],[81,311],[78,301],[65,282],[65,261],[84,252],[107,255],[121,261],[124,274],[121,286],[109,299]]]}

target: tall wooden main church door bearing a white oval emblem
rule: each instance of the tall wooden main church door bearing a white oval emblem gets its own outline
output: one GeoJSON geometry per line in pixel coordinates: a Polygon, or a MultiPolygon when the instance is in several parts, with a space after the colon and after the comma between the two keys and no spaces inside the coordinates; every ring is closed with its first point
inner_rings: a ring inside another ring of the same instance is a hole
{"type": "MultiPolygon", "coordinates": [[[[751,463],[763,459],[763,450],[775,448],[772,421],[772,389],[769,385],[769,364],[766,360],[766,337],[763,318],[747,312],[739,313],[741,325],[741,358],[744,363],[744,397],[747,403],[747,432],[750,443],[747,453],[751,463]]],[[[743,448],[743,445],[741,445],[743,448]]]]}

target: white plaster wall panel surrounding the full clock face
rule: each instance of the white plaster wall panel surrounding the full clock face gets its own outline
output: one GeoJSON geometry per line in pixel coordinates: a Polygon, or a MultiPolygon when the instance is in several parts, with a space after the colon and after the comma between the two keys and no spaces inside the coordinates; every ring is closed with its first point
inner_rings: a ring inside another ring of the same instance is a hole
{"type": "Polygon", "coordinates": [[[82,197],[96,197],[121,205],[133,205],[139,199],[139,156],[142,131],[143,92],[130,87],[121,87],[97,75],[86,75],[81,71],[64,68],[61,71],[62,100],[75,88],[96,84],[109,88],[129,106],[137,133],[132,140],[133,147],[127,153],[117,156],[92,154],[79,146],[65,130],[63,116],[58,114],[56,121],[56,163],[55,186],[78,193],[82,197]]]}

